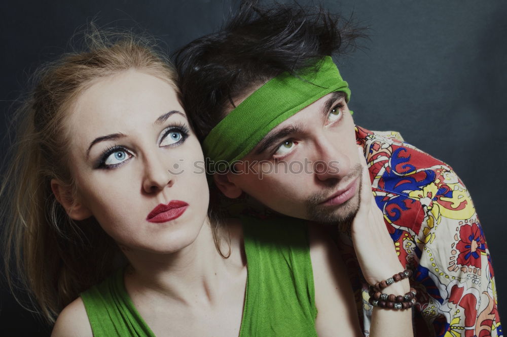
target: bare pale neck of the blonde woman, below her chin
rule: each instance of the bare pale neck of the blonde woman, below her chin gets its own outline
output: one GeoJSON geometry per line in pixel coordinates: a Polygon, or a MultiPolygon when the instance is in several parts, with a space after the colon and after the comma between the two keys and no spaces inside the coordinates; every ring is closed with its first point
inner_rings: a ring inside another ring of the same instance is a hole
{"type": "Polygon", "coordinates": [[[224,279],[239,275],[244,267],[241,259],[224,259],[219,254],[207,219],[195,241],[177,252],[153,254],[131,250],[125,255],[130,262],[125,275],[129,293],[149,297],[162,294],[188,304],[214,302],[227,286],[224,279]]]}

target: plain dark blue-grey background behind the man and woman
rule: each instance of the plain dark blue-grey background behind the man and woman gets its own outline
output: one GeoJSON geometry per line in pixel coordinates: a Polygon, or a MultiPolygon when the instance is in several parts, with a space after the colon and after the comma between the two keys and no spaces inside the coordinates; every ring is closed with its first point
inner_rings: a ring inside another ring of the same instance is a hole
{"type": "MultiPolygon", "coordinates": [[[[305,1],[301,1],[306,3],[305,1]]],[[[500,314],[507,303],[507,2],[489,0],[324,1],[370,27],[371,41],[338,59],[352,89],[357,124],[396,130],[405,140],[452,165],[471,192],[493,257],[500,314]]],[[[138,26],[172,52],[218,28],[229,1],[10,1],[0,5],[0,111],[26,88],[28,75],[66,50],[75,30],[138,26]]],[[[6,133],[1,123],[2,135],[6,133]]],[[[7,147],[4,141],[0,155],[7,147]]],[[[1,335],[48,335],[49,328],[0,293],[1,335]]],[[[506,319],[505,316],[501,316],[506,319]]]]}

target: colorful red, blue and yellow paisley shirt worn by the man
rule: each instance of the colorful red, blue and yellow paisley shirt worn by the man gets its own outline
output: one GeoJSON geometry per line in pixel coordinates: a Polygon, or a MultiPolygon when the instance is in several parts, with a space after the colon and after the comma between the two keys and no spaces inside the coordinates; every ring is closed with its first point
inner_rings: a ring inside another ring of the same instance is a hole
{"type": "MultiPolygon", "coordinates": [[[[413,271],[414,335],[502,336],[488,246],[472,198],[452,167],[405,143],[397,132],[358,126],[355,132],[400,262],[413,271]]],[[[247,196],[224,198],[211,200],[230,216],[272,215],[247,196]]],[[[350,237],[339,234],[337,244],[368,336],[373,309],[368,303],[369,285],[350,237]]]]}

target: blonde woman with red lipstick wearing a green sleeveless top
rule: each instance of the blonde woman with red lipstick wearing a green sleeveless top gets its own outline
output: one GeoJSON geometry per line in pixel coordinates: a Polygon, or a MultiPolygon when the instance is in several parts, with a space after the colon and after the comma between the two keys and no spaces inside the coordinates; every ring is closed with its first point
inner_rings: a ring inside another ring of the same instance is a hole
{"type": "Polygon", "coordinates": [[[359,335],[325,236],[208,217],[162,54],[132,35],[88,41],[39,72],[2,186],[6,271],[58,316],[53,335],[359,335]]]}

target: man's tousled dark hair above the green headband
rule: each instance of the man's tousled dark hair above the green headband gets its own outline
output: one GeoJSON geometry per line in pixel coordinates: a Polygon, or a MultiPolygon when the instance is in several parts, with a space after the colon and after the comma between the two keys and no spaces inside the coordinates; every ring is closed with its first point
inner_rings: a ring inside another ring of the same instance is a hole
{"type": "Polygon", "coordinates": [[[284,71],[295,73],[324,56],[353,50],[363,32],[321,6],[241,2],[222,29],[175,54],[181,99],[199,140],[234,99],[284,71]]]}

